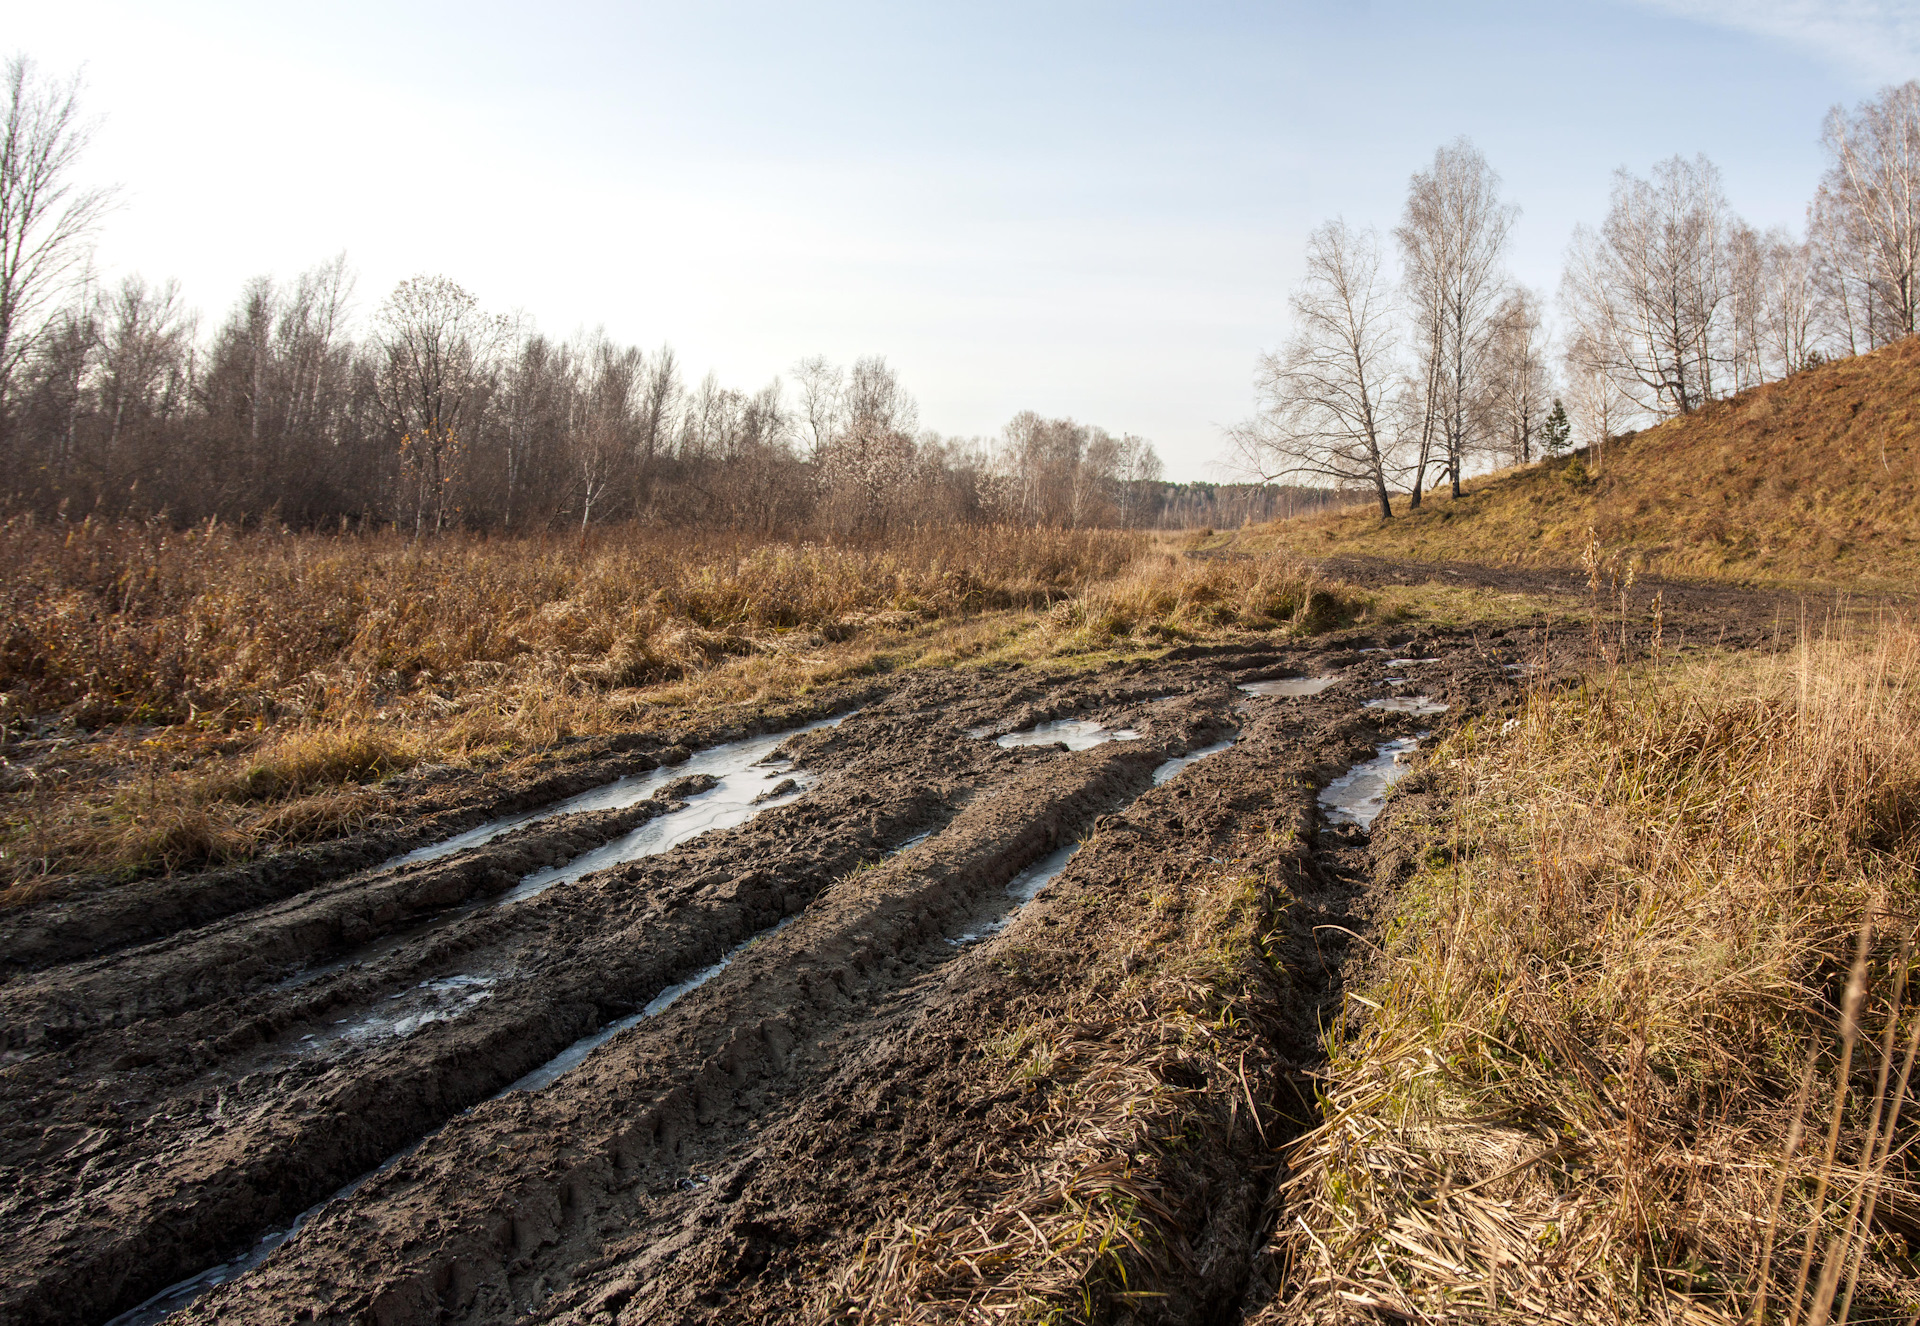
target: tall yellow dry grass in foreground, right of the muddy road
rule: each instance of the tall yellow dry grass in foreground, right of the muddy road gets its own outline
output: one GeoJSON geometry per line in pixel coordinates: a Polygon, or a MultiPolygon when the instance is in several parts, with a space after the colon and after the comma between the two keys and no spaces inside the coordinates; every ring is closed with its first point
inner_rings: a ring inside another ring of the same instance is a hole
{"type": "Polygon", "coordinates": [[[1434,754],[1269,1320],[1912,1320],[1920,631],[1434,754]]]}

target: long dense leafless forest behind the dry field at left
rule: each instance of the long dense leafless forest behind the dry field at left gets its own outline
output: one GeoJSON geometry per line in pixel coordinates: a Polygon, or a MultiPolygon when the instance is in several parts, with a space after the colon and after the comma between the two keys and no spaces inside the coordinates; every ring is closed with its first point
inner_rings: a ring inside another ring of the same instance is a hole
{"type": "Polygon", "coordinates": [[[758,390],[670,347],[553,340],[444,276],[355,326],[344,259],[257,278],[204,328],[173,284],[104,286],[111,198],[73,184],[77,83],[0,86],[0,510],[417,533],[605,522],[877,535],[916,524],[1219,526],[1332,493],[1167,484],[1152,443],[1016,414],[920,426],[879,357],[758,390]]]}

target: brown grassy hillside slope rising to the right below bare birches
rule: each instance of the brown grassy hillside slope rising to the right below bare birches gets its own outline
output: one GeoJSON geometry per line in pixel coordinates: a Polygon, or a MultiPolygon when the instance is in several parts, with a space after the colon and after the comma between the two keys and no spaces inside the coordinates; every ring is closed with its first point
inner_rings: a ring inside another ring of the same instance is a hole
{"type": "Polygon", "coordinates": [[[1396,518],[1365,509],[1242,545],[1574,566],[1592,528],[1642,572],[1887,583],[1920,574],[1920,338],[1809,368],[1609,443],[1480,476],[1396,518]]]}

